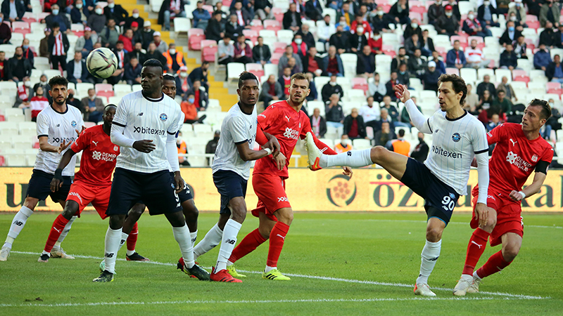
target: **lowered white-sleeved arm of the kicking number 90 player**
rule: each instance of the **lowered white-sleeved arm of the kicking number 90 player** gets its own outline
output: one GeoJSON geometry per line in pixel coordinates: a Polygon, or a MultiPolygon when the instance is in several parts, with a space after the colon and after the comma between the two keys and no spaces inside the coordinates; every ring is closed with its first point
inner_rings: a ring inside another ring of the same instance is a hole
{"type": "Polygon", "coordinates": [[[472,133],[473,152],[476,157],[479,180],[479,197],[477,198],[475,211],[479,219],[479,225],[484,226],[488,220],[488,138],[485,126],[482,124],[477,125],[472,133]]]}

